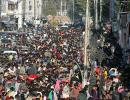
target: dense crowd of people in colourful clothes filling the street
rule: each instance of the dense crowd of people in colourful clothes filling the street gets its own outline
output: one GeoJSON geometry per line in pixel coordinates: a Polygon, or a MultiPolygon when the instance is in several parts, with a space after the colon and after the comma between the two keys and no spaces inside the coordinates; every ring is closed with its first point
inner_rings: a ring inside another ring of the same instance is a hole
{"type": "Polygon", "coordinates": [[[46,27],[39,35],[30,53],[1,62],[1,100],[129,100],[119,73],[108,67],[91,64],[94,70],[82,85],[81,30],[46,27]]]}

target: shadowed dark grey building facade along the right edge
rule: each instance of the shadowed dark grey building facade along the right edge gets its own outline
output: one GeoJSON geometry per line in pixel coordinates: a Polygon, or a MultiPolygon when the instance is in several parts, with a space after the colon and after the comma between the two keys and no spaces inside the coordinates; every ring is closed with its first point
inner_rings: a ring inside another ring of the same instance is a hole
{"type": "Polygon", "coordinates": [[[123,49],[123,57],[130,64],[130,1],[124,0],[118,12],[119,44],[123,49]]]}

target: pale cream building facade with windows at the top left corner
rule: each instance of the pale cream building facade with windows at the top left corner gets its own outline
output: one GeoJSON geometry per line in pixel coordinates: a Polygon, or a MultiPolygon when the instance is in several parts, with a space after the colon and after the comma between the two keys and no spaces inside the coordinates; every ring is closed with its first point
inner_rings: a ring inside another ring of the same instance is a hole
{"type": "Polygon", "coordinates": [[[18,29],[22,28],[24,20],[42,17],[42,0],[1,0],[0,15],[16,19],[18,29]]]}

